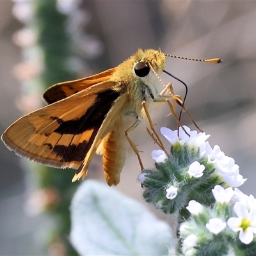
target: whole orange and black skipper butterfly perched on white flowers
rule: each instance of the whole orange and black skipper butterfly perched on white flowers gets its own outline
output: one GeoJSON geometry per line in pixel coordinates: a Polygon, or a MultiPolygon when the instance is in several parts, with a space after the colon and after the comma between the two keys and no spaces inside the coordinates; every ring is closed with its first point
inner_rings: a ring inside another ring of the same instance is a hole
{"type": "Polygon", "coordinates": [[[72,181],[86,177],[95,153],[102,154],[106,182],[109,186],[118,184],[129,145],[143,170],[138,148],[129,137],[129,132],[141,122],[165,150],[154,130],[150,109],[168,102],[175,115],[175,101],[182,104],[182,99],[173,93],[172,83],[164,89],[161,86],[159,76],[166,72],[166,56],[181,58],[161,50],[138,49],[115,68],[54,84],[43,95],[49,105],[19,118],[4,131],[1,140],[30,161],[77,169],[72,181]]]}

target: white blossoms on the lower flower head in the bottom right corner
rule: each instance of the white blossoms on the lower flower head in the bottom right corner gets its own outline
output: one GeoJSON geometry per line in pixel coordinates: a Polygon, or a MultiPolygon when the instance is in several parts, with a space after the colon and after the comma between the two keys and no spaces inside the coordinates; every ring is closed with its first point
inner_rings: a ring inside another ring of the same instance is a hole
{"type": "MultiPolygon", "coordinates": [[[[232,209],[235,216],[228,216],[227,218],[225,214],[219,214],[218,217],[214,216],[214,213],[209,214],[213,217],[205,224],[205,228],[214,235],[218,235],[221,232],[226,232],[225,234],[227,235],[230,234],[230,230],[239,232],[239,240],[241,243],[252,243],[256,234],[256,199],[254,196],[245,195],[237,188],[234,190],[232,188],[224,189],[220,185],[216,185],[214,189],[212,189],[212,194],[214,195],[216,204],[219,204],[220,207],[225,207],[225,205],[233,202],[232,205],[234,206],[232,209]],[[225,220],[225,218],[227,219],[225,220]]],[[[207,211],[202,204],[195,200],[191,200],[186,208],[192,216],[198,216],[207,211]]],[[[196,228],[196,230],[198,230],[198,228],[196,228]]],[[[200,240],[200,230],[198,230],[198,234],[195,234],[191,231],[189,223],[184,222],[180,225],[180,235],[186,237],[182,242],[182,252],[184,255],[193,255],[196,251],[196,246],[198,246],[198,241],[200,240]]],[[[205,237],[209,237],[207,234],[204,235],[205,237]]],[[[231,236],[234,237],[234,235],[231,236]]]]}

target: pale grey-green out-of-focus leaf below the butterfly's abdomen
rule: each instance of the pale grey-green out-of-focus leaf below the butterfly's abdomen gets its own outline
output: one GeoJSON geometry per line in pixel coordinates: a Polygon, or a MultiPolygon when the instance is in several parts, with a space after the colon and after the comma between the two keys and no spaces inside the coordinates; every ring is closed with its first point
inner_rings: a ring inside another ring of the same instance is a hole
{"type": "Polygon", "coordinates": [[[71,205],[71,242],[81,255],[168,255],[170,227],[115,188],[84,181],[71,205]]]}

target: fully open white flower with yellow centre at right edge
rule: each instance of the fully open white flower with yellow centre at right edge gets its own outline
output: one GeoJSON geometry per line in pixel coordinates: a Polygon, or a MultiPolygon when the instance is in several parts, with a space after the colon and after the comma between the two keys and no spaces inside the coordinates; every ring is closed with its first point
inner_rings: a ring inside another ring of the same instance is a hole
{"type": "Polygon", "coordinates": [[[242,243],[250,244],[253,241],[253,234],[256,234],[256,208],[248,211],[241,202],[236,202],[234,212],[237,218],[229,218],[228,227],[234,232],[239,231],[239,239],[242,243]]]}

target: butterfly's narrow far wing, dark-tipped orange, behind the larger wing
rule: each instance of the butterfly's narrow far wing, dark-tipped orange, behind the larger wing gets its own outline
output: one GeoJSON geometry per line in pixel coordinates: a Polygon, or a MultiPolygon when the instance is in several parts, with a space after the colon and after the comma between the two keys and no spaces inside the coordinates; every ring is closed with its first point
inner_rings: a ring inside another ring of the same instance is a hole
{"type": "Polygon", "coordinates": [[[115,70],[116,68],[110,68],[93,76],[54,84],[44,92],[43,98],[48,104],[65,99],[77,92],[81,92],[82,90],[93,86],[94,84],[111,81],[111,76],[115,70]]]}

